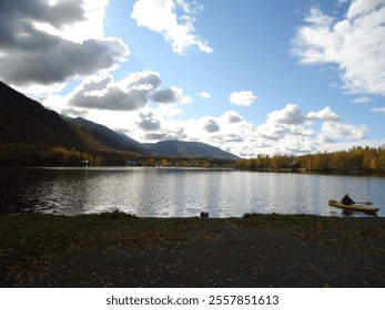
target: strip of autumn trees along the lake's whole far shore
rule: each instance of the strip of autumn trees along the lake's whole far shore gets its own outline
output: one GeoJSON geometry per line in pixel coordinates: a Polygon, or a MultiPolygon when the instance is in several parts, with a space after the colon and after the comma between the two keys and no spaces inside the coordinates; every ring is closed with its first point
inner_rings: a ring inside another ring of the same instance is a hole
{"type": "Polygon", "coordinates": [[[257,155],[250,159],[170,158],[129,152],[80,152],[63,146],[0,143],[0,166],[163,166],[235,168],[260,172],[322,172],[385,174],[384,147],[353,147],[332,153],[257,155]]]}

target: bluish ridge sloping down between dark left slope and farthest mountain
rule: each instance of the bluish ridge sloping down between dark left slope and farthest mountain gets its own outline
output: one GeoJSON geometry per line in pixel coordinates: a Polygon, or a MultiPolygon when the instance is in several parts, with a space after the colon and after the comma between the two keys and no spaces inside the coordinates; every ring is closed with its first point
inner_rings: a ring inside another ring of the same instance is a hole
{"type": "Polygon", "coordinates": [[[63,118],[75,125],[84,127],[94,140],[102,142],[107,147],[118,151],[130,151],[138,153],[145,152],[144,147],[139,142],[122,133],[116,133],[107,126],[93,123],[82,117],[71,118],[63,116],[63,118]]]}

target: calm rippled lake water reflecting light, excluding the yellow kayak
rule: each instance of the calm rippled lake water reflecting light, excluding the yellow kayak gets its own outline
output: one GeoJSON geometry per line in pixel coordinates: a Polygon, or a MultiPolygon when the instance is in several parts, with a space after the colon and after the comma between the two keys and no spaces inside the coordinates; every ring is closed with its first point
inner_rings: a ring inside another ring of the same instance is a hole
{"type": "MultiPolygon", "coordinates": [[[[149,217],[245,213],[342,216],[348,193],[385,216],[385,178],[172,168],[2,168],[0,213],[78,215],[114,209],[149,217]]],[[[353,215],[365,216],[365,215],[353,215]]]]}

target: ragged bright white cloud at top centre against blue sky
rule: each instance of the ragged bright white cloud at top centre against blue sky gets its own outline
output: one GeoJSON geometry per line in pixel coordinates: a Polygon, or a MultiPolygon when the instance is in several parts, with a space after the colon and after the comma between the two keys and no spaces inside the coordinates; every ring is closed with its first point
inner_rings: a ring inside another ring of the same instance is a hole
{"type": "Polygon", "coordinates": [[[183,0],[138,0],[131,18],[138,27],[145,27],[161,33],[171,43],[175,53],[185,53],[191,48],[212,53],[209,42],[195,34],[193,17],[203,10],[197,2],[183,0]],[[182,14],[178,14],[178,9],[182,14]]]}

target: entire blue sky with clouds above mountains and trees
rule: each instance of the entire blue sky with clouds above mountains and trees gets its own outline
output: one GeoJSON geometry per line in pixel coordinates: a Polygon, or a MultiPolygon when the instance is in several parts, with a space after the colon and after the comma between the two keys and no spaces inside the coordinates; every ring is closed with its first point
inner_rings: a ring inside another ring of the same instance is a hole
{"type": "Polygon", "coordinates": [[[385,143],[385,0],[1,0],[0,80],[140,142],[385,143]]]}

